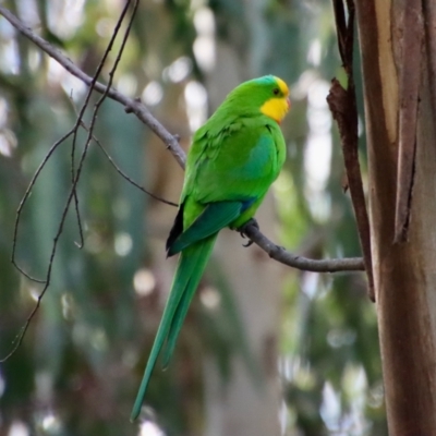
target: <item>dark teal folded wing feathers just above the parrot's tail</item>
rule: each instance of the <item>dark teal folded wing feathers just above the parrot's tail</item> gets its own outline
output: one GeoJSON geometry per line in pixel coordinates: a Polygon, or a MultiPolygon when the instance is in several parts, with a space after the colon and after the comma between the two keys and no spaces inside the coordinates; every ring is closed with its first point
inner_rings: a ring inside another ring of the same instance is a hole
{"type": "MultiPolygon", "coordinates": [[[[246,204],[250,204],[250,202],[209,203],[184,232],[179,234],[173,233],[172,238],[168,239],[168,256],[180,253],[186,246],[210,237],[229,226],[230,222],[240,216],[246,204]]],[[[182,215],[183,213],[180,214],[179,219],[182,219],[182,215]]]]}

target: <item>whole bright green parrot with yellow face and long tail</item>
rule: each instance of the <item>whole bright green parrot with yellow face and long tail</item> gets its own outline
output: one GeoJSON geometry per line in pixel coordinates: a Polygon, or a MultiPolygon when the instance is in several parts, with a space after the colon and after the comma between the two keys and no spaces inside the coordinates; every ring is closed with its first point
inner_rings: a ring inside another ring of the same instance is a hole
{"type": "Polygon", "coordinates": [[[234,88],[194,134],[179,213],[167,240],[168,256],[180,253],[179,263],[131,421],[141,412],[160,351],[164,366],[169,363],[218,232],[240,229],[252,219],[277,179],[286,158],[279,124],[289,108],[281,78],[254,78],[234,88]]]}

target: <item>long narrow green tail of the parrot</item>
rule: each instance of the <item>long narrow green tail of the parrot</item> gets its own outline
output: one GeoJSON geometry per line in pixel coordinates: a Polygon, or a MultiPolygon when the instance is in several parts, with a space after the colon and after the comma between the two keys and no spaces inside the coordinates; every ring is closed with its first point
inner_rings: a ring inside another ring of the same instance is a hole
{"type": "Polygon", "coordinates": [[[165,342],[164,365],[167,366],[171,359],[177,338],[179,337],[191,300],[194,296],[203,276],[203,271],[210,256],[217,234],[218,233],[215,233],[184,249],[179,257],[171,292],[165,306],[162,319],[157,330],[147,366],[145,367],[144,377],[141,382],[140,390],[133,405],[131,414],[132,422],[136,420],[141,412],[149,378],[165,342]]]}

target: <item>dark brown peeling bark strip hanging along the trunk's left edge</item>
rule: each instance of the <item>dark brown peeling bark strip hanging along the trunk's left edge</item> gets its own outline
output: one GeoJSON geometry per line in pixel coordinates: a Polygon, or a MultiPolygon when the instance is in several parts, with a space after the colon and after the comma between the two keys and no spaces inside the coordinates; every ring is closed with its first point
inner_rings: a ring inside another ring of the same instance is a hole
{"type": "Polygon", "coordinates": [[[371,254],[371,228],[359,162],[359,124],[353,80],[354,3],[352,0],[347,0],[347,4],[349,12],[348,24],[346,23],[343,1],[334,0],[339,52],[347,73],[348,87],[344,89],[338,80],[334,78],[331,81],[331,88],[327,101],[332,117],[338,123],[351,202],[354,208],[363,259],[368,278],[368,296],[372,301],[375,301],[371,254]]]}

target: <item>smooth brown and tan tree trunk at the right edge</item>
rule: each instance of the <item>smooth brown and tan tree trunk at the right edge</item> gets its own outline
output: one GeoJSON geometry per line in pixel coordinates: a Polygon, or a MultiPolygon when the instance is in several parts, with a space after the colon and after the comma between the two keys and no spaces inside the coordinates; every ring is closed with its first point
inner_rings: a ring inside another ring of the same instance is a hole
{"type": "Polygon", "coordinates": [[[408,2],[359,0],[356,7],[370,156],[373,270],[389,434],[436,435],[436,117],[431,92],[434,84],[428,80],[432,63],[424,50],[409,239],[393,244],[399,76],[408,2]]]}

